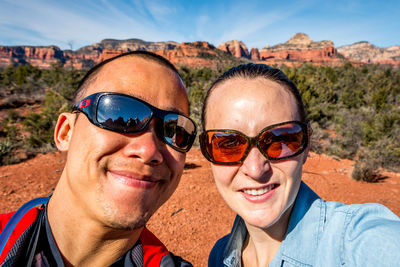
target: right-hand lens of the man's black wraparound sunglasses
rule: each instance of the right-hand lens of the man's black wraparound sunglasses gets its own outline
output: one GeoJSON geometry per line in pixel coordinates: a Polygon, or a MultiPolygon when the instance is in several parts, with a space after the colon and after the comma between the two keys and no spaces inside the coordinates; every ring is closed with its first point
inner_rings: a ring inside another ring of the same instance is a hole
{"type": "Polygon", "coordinates": [[[164,140],[173,147],[186,150],[190,148],[196,127],[191,120],[179,114],[164,117],[164,140]]]}

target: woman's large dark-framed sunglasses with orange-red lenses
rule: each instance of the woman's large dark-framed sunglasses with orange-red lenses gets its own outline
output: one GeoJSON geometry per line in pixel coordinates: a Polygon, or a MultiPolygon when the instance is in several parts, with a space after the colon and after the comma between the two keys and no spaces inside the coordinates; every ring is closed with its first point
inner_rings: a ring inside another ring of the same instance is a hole
{"type": "Polygon", "coordinates": [[[307,130],[300,121],[270,125],[255,137],[236,130],[208,130],[200,135],[201,152],[208,161],[221,165],[243,163],[253,146],[269,160],[289,159],[307,147],[307,130]]]}

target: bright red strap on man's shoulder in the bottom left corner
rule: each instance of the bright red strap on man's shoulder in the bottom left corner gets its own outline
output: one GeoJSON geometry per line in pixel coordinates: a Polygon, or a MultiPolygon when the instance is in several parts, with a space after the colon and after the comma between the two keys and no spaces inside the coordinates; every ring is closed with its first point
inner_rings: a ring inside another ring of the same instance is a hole
{"type": "MultiPolygon", "coordinates": [[[[7,222],[11,219],[14,215],[14,212],[0,214],[0,231],[3,231],[4,227],[6,226],[7,222]]],[[[11,233],[10,237],[7,240],[7,243],[4,247],[3,252],[0,255],[0,263],[4,261],[8,252],[10,252],[11,248],[13,247],[14,243],[18,240],[21,234],[29,227],[37,218],[38,209],[32,208],[24,216],[15,226],[13,232],[11,233]]]]}

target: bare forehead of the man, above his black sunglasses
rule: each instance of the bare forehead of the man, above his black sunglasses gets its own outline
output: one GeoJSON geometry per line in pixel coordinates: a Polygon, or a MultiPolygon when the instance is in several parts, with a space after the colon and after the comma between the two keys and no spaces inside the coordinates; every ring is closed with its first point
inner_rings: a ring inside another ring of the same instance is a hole
{"type": "Polygon", "coordinates": [[[188,113],[186,89],[179,75],[147,58],[129,56],[104,65],[86,95],[97,92],[132,95],[160,109],[188,113]]]}

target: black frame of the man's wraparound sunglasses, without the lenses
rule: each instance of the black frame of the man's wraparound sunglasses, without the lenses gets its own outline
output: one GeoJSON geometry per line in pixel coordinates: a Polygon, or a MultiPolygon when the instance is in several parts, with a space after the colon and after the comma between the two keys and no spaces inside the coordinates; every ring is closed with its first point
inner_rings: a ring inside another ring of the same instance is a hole
{"type": "Polygon", "coordinates": [[[97,127],[100,127],[102,129],[106,129],[112,132],[117,132],[117,133],[123,133],[123,134],[133,134],[133,133],[140,133],[142,132],[151,122],[151,120],[156,117],[162,120],[162,125],[164,126],[164,117],[166,115],[171,115],[171,114],[175,114],[175,115],[180,115],[183,116],[185,118],[187,118],[189,121],[191,121],[193,123],[193,134],[190,135],[190,139],[188,140],[189,145],[187,148],[180,148],[177,146],[174,146],[170,143],[168,143],[166,141],[166,137],[164,135],[164,127],[162,127],[161,129],[158,129],[158,135],[159,138],[167,145],[169,145],[170,147],[172,147],[173,149],[179,151],[179,152],[188,152],[190,150],[190,148],[192,147],[194,140],[196,138],[196,134],[197,134],[197,126],[196,123],[188,116],[186,116],[185,114],[179,113],[179,112],[173,112],[173,111],[167,111],[167,110],[162,110],[159,109],[149,103],[147,103],[146,101],[143,101],[139,98],[136,98],[134,96],[131,95],[127,95],[127,94],[122,94],[122,93],[114,93],[114,92],[100,92],[100,93],[94,93],[91,94],[85,98],[83,98],[82,100],[78,101],[78,103],[76,103],[75,105],[72,106],[72,113],[76,113],[76,112],[82,112],[83,114],[86,115],[86,117],[89,119],[89,121],[93,124],[96,125],[97,127]],[[135,101],[138,101],[142,104],[144,104],[146,107],[149,107],[149,109],[151,110],[151,114],[150,114],[150,119],[148,120],[147,123],[143,124],[142,127],[140,127],[138,130],[135,131],[120,131],[120,130],[116,130],[112,127],[108,127],[107,125],[101,124],[98,120],[97,120],[97,110],[98,110],[98,104],[99,104],[99,100],[101,97],[103,96],[107,96],[107,95],[118,95],[118,96],[123,96],[126,98],[130,98],[133,99],[135,101]]]}

